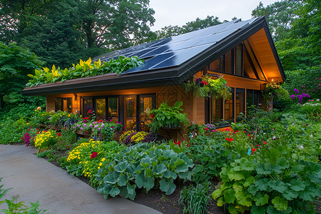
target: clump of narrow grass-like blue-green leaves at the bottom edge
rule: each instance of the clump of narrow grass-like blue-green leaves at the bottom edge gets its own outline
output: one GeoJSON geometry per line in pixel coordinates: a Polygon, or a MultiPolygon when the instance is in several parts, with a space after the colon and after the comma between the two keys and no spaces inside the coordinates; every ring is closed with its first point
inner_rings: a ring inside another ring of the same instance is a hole
{"type": "Polygon", "coordinates": [[[183,213],[203,214],[208,210],[206,209],[208,201],[211,200],[210,194],[210,182],[197,183],[193,185],[184,186],[180,191],[180,199],[178,203],[183,205],[183,213]]]}

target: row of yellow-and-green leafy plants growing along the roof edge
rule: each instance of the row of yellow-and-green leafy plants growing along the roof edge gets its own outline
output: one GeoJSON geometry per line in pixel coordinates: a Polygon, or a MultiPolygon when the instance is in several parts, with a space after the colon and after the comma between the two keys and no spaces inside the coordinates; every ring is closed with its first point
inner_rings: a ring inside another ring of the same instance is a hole
{"type": "Polygon", "coordinates": [[[55,83],[56,81],[66,81],[73,78],[81,78],[86,76],[96,76],[103,73],[123,73],[129,68],[136,67],[143,63],[143,59],[138,59],[138,56],[132,56],[131,58],[125,56],[119,56],[118,59],[111,59],[110,61],[103,62],[94,61],[91,63],[91,58],[87,61],[80,60],[78,64],[71,68],[56,68],[52,66],[51,70],[49,68],[43,68],[41,70],[35,70],[35,74],[28,74],[31,78],[26,86],[38,86],[44,83],[55,83]]]}

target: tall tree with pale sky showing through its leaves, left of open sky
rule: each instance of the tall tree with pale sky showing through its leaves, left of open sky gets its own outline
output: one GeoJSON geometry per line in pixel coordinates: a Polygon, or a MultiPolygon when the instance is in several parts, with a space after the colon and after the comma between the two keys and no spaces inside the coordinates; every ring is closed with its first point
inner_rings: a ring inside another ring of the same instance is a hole
{"type": "Polygon", "coordinates": [[[88,49],[124,49],[151,35],[155,11],[149,0],[73,0],[88,49]]]}

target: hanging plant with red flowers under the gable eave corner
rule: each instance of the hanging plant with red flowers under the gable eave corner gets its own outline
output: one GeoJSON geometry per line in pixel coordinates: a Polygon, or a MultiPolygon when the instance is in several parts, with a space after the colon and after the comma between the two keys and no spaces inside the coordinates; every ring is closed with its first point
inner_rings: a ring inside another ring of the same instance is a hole
{"type": "Polygon", "coordinates": [[[226,80],[222,75],[202,76],[195,81],[183,83],[186,93],[193,91],[194,96],[223,98],[230,96],[230,88],[226,86],[226,80]]]}

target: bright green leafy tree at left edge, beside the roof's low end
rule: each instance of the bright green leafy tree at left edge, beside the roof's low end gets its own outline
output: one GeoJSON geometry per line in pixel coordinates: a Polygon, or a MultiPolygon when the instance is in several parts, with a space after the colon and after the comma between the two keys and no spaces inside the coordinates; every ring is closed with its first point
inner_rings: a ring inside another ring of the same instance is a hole
{"type": "Polygon", "coordinates": [[[21,91],[28,82],[28,73],[39,68],[41,61],[28,49],[0,42],[0,107],[24,102],[21,91]]]}

